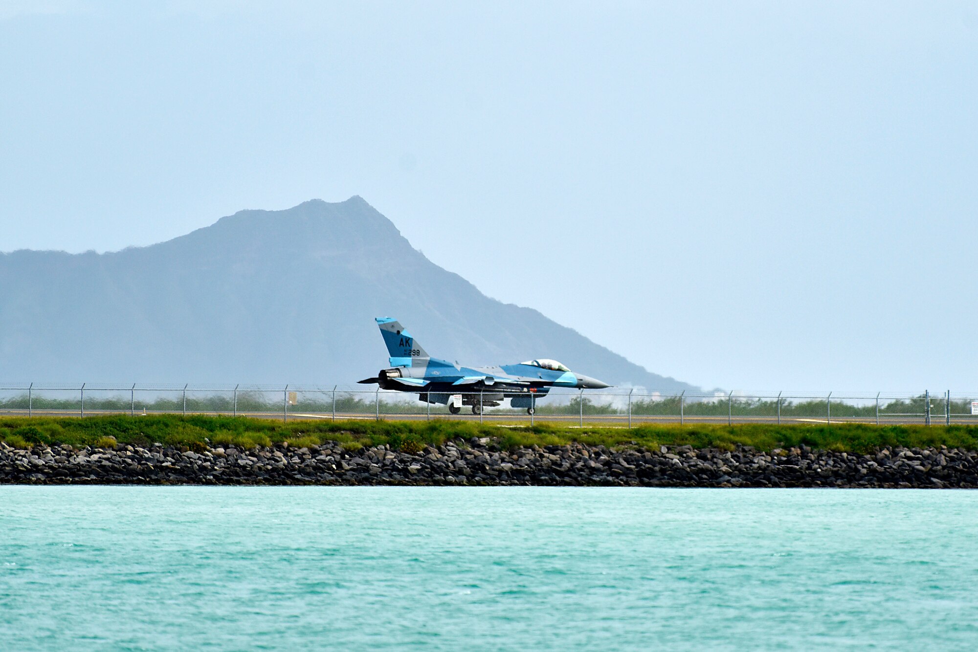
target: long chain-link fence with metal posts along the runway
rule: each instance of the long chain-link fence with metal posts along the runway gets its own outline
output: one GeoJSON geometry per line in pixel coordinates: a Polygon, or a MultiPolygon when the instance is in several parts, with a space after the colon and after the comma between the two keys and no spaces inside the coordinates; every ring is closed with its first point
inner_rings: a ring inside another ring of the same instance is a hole
{"type": "Polygon", "coordinates": [[[0,414],[228,414],[264,418],[450,418],[496,423],[633,426],[679,423],[978,423],[978,392],[914,395],[553,389],[507,398],[490,391],[405,393],[355,385],[98,385],[6,383],[0,414]]]}

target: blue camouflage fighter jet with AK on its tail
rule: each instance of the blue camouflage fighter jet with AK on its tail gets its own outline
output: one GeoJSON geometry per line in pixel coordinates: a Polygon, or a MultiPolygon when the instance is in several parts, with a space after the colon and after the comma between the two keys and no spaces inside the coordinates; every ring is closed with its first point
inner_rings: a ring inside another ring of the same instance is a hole
{"type": "Polygon", "coordinates": [[[381,389],[417,392],[418,400],[447,405],[458,414],[471,406],[473,414],[484,407],[495,408],[510,399],[513,408],[532,414],[537,400],[552,387],[600,389],[608,387],[580,373],[574,373],[556,360],[530,360],[502,367],[461,367],[431,358],[422,345],[397,320],[378,317],[383,342],[390,352],[390,369],[381,369],[376,378],[361,380],[381,389]]]}

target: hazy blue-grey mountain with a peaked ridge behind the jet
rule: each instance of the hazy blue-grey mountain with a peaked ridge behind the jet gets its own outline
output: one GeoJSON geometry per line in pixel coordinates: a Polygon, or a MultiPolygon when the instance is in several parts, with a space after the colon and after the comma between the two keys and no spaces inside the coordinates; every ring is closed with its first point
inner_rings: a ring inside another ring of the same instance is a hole
{"type": "Polygon", "coordinates": [[[7,380],[347,383],[386,366],[373,318],[391,316],[468,365],[555,358],[616,385],[696,389],[486,296],[360,196],[112,252],[0,253],[0,284],[7,380]]]}

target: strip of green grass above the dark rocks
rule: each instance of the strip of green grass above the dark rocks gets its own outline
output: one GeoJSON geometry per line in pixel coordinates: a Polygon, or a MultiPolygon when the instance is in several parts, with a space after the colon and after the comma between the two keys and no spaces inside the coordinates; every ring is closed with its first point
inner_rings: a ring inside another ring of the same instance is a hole
{"type": "Polygon", "coordinates": [[[625,428],[569,428],[544,424],[502,427],[459,421],[290,421],[232,416],[107,415],[77,417],[8,417],[0,419],[0,439],[16,448],[33,444],[70,444],[107,448],[115,444],[147,446],[155,442],[202,450],[206,446],[251,448],[288,442],[311,446],[338,441],[344,448],[387,444],[394,449],[418,450],[450,439],[489,437],[505,448],[570,442],[608,447],[683,446],[732,450],[737,444],[770,451],[805,444],[815,449],[867,453],[883,446],[978,450],[978,425],[922,426],[839,424],[740,423],[661,424],[625,428]]]}

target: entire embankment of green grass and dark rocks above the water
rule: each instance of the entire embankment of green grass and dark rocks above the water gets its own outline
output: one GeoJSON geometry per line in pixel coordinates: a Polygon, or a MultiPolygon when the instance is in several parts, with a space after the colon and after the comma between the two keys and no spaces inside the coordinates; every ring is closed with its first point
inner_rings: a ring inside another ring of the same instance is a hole
{"type": "Polygon", "coordinates": [[[7,418],[0,482],[978,486],[978,427],[7,418]]]}

